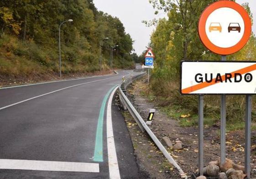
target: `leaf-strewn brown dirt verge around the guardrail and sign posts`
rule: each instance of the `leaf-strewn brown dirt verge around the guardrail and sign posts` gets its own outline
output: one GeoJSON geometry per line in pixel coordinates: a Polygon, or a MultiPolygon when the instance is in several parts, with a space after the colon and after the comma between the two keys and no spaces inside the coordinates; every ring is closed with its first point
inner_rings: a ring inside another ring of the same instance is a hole
{"type": "MultiPolygon", "coordinates": [[[[141,117],[146,119],[149,109],[155,108],[156,113],[150,128],[158,139],[169,137],[172,142],[179,139],[183,142],[184,148],[178,151],[170,151],[172,157],[177,161],[188,178],[193,178],[193,173],[198,172],[198,128],[180,127],[177,120],[167,117],[154,103],[141,95],[145,89],[145,80],[137,80],[128,89],[128,96],[134,103],[141,117]]],[[[127,127],[130,131],[138,163],[142,170],[150,175],[152,179],[176,179],[181,178],[162,153],[152,143],[146,133],[141,133],[128,112],[124,112],[127,127]]],[[[235,164],[244,165],[245,135],[244,131],[227,132],[226,134],[226,157],[232,159],[235,164]]],[[[251,140],[251,168],[256,169],[256,131],[252,131],[251,140]]],[[[204,127],[204,165],[210,161],[217,160],[220,154],[219,126],[204,127]]],[[[252,172],[252,178],[256,173],[252,172]]]]}

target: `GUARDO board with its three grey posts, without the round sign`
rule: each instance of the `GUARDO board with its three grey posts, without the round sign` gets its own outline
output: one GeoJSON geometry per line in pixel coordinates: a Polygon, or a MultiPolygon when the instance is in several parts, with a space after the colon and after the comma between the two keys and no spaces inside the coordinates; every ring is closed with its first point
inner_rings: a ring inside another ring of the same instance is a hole
{"type": "Polygon", "coordinates": [[[204,99],[206,94],[221,95],[221,164],[225,164],[226,94],[246,95],[245,169],[250,179],[251,95],[256,94],[256,61],[182,61],[181,93],[199,95],[199,173],[204,167],[204,99]]]}

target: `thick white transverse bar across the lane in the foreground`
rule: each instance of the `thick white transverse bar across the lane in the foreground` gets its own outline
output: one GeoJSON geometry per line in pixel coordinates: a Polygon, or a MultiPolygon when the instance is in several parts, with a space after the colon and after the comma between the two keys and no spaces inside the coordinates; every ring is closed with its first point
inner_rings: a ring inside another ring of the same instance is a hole
{"type": "Polygon", "coordinates": [[[99,164],[42,160],[0,159],[0,169],[99,173],[99,164]]]}

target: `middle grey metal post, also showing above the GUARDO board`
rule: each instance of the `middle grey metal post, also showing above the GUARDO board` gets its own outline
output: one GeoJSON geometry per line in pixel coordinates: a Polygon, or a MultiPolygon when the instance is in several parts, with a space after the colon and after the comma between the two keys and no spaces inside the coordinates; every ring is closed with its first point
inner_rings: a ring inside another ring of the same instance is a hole
{"type": "MultiPolygon", "coordinates": [[[[226,56],[221,56],[221,61],[227,61],[226,56]]],[[[226,162],[226,95],[221,95],[220,104],[220,164],[226,162]]]]}

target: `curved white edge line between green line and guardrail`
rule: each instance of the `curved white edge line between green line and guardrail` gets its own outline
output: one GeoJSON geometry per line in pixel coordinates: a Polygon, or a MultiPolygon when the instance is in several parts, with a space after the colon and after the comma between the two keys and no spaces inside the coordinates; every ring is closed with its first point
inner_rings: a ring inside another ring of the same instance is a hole
{"type": "Polygon", "coordinates": [[[120,179],[120,172],[118,167],[118,161],[115,150],[115,140],[112,126],[112,99],[115,94],[116,87],[110,95],[108,107],[107,107],[107,144],[108,144],[108,159],[109,159],[109,171],[110,179],[120,179]]]}

